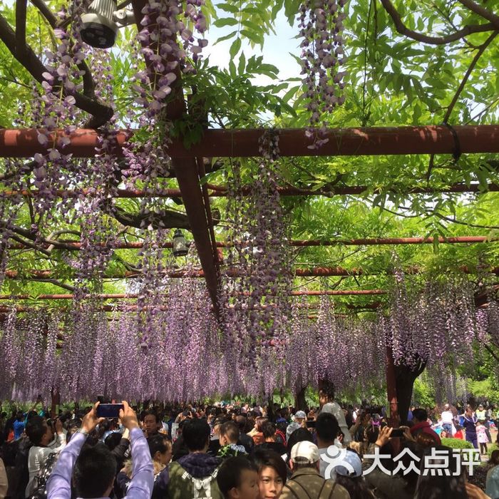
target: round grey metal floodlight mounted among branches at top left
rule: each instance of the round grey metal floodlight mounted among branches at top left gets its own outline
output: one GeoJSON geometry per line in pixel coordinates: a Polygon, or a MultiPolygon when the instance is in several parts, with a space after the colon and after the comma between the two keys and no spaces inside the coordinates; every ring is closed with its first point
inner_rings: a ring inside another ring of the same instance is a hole
{"type": "Polygon", "coordinates": [[[93,0],[88,12],[81,16],[81,39],[96,48],[110,48],[116,41],[118,28],[134,21],[133,12],[116,10],[115,0],[93,0]]]}

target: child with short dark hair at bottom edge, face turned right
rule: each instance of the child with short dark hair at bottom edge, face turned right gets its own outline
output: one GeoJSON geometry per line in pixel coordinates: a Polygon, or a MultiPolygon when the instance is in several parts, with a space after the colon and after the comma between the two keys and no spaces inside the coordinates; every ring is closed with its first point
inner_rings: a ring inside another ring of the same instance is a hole
{"type": "Polygon", "coordinates": [[[258,468],[243,456],[228,458],[220,466],[217,484],[225,499],[258,499],[258,468]]]}

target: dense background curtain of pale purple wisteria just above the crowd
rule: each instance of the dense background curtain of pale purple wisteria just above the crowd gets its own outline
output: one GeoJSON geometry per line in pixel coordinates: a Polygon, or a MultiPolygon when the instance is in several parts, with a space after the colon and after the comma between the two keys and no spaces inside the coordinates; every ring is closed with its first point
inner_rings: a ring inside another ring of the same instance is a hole
{"type": "Polygon", "coordinates": [[[234,348],[206,312],[211,305],[202,280],[164,278],[160,286],[168,293],[151,308],[147,330],[140,318],[144,309],[130,313],[128,305],[121,305],[106,317],[95,299],[80,302],[65,315],[43,310],[16,314],[13,309],[0,330],[0,397],[34,400],[55,389],[66,400],[107,393],[193,401],[317,388],[321,379],[331,381],[339,393],[369,393],[384,383],[386,346],[391,346],[396,364],[412,366],[419,358],[434,379],[448,380],[446,392],[438,396],[454,400],[465,396],[456,366],[473,359],[473,341],[497,344],[495,302],[475,311],[468,304],[470,286],[447,282],[410,295],[405,304],[415,312],[407,310],[403,321],[396,299],[392,314],[377,321],[344,317],[329,297],[321,299],[318,311],[297,300],[278,334],[282,355],[269,347],[251,369],[247,352],[234,348]],[[407,329],[401,330],[401,324],[407,329]]]}

